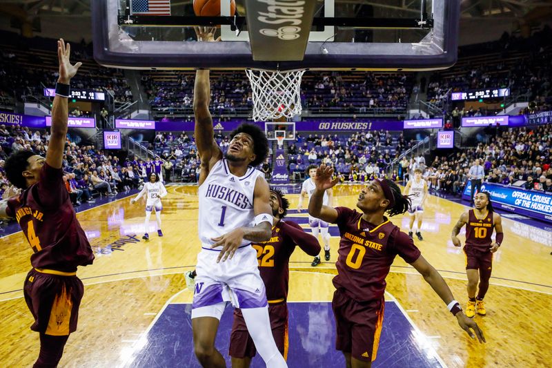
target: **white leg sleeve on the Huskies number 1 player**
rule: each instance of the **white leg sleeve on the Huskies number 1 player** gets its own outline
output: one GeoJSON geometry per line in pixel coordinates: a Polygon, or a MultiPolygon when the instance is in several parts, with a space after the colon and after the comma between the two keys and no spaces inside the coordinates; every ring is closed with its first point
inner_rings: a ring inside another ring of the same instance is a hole
{"type": "Polygon", "coordinates": [[[280,354],[268,318],[268,307],[242,309],[247,330],[259,356],[263,358],[266,368],[287,368],[286,360],[280,354]]]}

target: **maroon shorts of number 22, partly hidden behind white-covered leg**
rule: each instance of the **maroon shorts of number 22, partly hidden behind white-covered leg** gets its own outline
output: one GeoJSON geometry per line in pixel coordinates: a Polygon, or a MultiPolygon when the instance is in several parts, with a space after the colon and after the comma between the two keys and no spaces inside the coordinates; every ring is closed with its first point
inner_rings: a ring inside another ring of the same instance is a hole
{"type": "MultiPolygon", "coordinates": [[[[288,304],[281,302],[277,304],[268,304],[268,316],[270,317],[270,328],[276,342],[278,350],[288,358],[288,304]]],[[[234,323],[230,335],[230,352],[232,358],[253,358],[257,354],[253,339],[249,335],[246,327],[246,321],[242,311],[234,311],[234,323]]]]}

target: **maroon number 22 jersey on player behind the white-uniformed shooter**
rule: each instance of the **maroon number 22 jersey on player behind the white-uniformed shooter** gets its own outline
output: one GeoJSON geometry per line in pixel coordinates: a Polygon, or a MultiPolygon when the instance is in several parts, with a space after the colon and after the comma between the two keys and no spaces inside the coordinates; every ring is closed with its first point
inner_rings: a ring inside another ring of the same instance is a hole
{"type": "Polygon", "coordinates": [[[318,240],[305,233],[293,221],[279,221],[272,228],[268,242],[253,244],[257,250],[259,272],[266,287],[268,302],[284,301],[288,298],[289,258],[297,244],[308,255],[320,252],[318,240]]]}

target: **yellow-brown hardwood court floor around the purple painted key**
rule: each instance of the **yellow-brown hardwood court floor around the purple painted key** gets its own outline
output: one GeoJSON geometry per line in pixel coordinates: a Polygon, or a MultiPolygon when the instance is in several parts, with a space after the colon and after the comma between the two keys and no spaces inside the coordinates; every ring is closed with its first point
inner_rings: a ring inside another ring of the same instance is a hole
{"type": "MultiPolygon", "coordinates": [[[[97,259],[79,269],[85,284],[79,329],[68,340],[61,367],[132,366],[132,355],[141,348],[136,342],[166,302],[184,289],[182,273],[193,269],[199,251],[197,187],[172,186],[168,191],[163,201],[165,236],[157,237],[152,218],[148,242],[141,240],[144,203],[131,205],[126,198],[79,213],[97,259]]],[[[338,186],[334,205],[354,207],[358,191],[359,186],[338,186]]],[[[297,195],[288,197],[295,209],[297,195]]],[[[466,302],[464,255],[449,238],[465,209],[431,196],[422,227],[424,241],[415,241],[462,304],[466,302]]],[[[306,213],[290,211],[288,217],[306,226],[306,213]]],[[[407,216],[393,217],[393,222],[408,227],[407,216]]],[[[503,227],[504,245],[495,254],[486,296],[488,314],[475,317],[486,334],[485,345],[473,342],[457,327],[431,287],[400,258],[387,278],[386,298],[394,297],[402,305],[423,333],[418,338],[449,367],[549,367],[552,362],[552,231],[544,224],[529,226],[504,217],[503,227]]],[[[464,235],[461,239],[463,243],[464,235]]],[[[0,238],[0,246],[0,367],[30,367],[39,349],[21,291],[30,269],[30,246],[21,232],[0,238]]],[[[332,262],[315,269],[310,257],[295,251],[290,301],[331,300],[337,246],[338,238],[333,237],[332,262]]],[[[179,298],[188,302],[191,293],[179,293],[179,298]]]]}

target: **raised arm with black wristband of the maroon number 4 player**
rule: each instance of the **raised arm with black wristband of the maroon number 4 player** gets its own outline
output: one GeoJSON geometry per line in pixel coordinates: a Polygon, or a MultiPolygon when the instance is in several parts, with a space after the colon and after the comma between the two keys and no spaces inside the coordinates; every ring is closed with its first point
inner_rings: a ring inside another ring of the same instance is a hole
{"type": "Polygon", "coordinates": [[[57,59],[59,61],[59,77],[57,79],[56,95],[52,106],[52,128],[46,164],[52,168],[61,168],[63,164],[63,149],[67,136],[69,83],[75,77],[82,63],[71,65],[69,61],[71,46],[63,39],[57,41],[57,59]]]}

